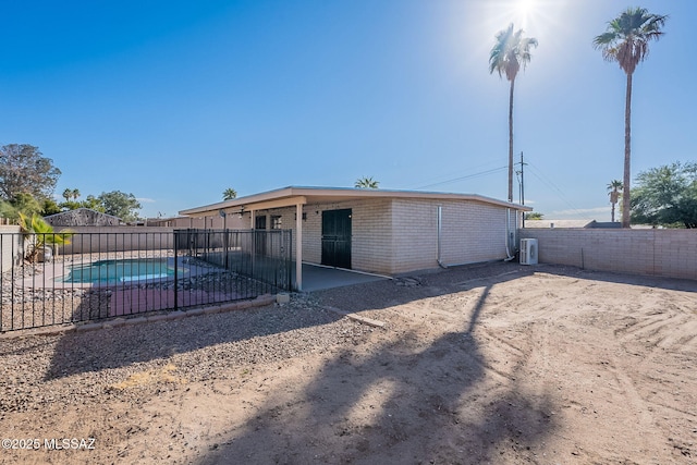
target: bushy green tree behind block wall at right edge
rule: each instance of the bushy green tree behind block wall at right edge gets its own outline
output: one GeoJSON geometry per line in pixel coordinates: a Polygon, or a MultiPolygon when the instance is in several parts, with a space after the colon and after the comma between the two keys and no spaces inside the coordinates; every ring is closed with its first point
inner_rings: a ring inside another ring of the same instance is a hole
{"type": "Polygon", "coordinates": [[[640,172],[632,197],[632,220],[669,228],[697,228],[697,162],[640,172]]]}

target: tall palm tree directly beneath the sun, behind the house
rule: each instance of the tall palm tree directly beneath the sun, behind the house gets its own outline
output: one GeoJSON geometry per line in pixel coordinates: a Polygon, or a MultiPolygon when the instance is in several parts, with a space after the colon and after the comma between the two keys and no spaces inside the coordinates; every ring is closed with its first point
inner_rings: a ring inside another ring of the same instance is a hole
{"type": "Polygon", "coordinates": [[[537,47],[537,39],[523,37],[523,29],[513,32],[513,23],[496,35],[497,42],[489,56],[489,74],[494,71],[499,77],[505,74],[511,83],[509,96],[509,201],[513,201],[513,89],[515,77],[529,63],[530,48],[537,47]]]}

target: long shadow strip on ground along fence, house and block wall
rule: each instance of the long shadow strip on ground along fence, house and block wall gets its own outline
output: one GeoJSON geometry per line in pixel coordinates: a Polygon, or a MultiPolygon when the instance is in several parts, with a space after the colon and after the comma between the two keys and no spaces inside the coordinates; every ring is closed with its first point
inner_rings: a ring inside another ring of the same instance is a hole
{"type": "MultiPolygon", "coordinates": [[[[378,281],[352,286],[351,298],[345,289],[318,291],[311,298],[323,306],[346,311],[381,309],[423,298],[467,291],[488,281],[503,282],[538,272],[604,280],[625,284],[697,291],[697,282],[632,277],[607,272],[584,271],[574,267],[534,266],[496,262],[403,277],[394,281],[378,281]]],[[[187,318],[180,322],[146,323],[61,336],[45,379],[74,374],[118,368],[139,362],[166,358],[176,353],[209,345],[243,341],[255,336],[282,333],[294,329],[327,325],[341,318],[337,314],[314,308],[270,306],[244,311],[187,318]]],[[[473,319],[472,325],[474,325],[473,319]]]]}

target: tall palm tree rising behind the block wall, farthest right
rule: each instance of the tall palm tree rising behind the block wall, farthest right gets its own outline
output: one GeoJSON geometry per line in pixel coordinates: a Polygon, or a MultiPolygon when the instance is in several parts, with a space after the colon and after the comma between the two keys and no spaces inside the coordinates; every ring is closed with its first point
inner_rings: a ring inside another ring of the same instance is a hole
{"type": "Polygon", "coordinates": [[[667,15],[651,14],[644,8],[629,8],[608,23],[607,30],[592,44],[607,61],[616,61],[627,75],[624,105],[624,180],[622,192],[622,228],[629,228],[629,181],[632,159],[632,76],[637,64],[649,54],[649,41],[658,40],[667,15]]]}

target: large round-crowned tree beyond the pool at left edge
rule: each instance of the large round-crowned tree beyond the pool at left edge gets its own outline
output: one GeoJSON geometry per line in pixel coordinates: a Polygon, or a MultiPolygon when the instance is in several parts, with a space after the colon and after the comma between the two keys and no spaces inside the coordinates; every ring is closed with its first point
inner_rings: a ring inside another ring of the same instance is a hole
{"type": "Polygon", "coordinates": [[[37,147],[9,144],[0,147],[0,196],[13,201],[22,193],[37,199],[49,198],[61,170],[42,157],[37,147]]]}

